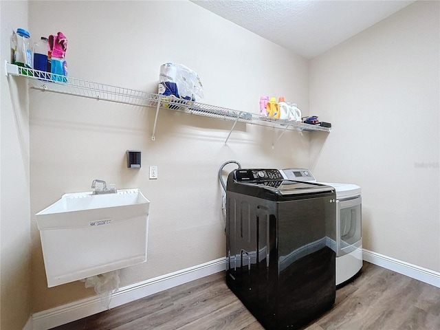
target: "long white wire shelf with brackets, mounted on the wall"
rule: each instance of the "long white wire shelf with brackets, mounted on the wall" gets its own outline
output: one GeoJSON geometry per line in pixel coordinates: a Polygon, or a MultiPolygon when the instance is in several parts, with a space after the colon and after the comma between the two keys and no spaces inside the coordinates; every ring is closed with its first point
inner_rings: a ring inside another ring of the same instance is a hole
{"type": "Polygon", "coordinates": [[[104,85],[71,76],[50,74],[48,72],[41,72],[39,70],[12,65],[8,63],[8,61],[5,61],[5,69],[6,76],[22,76],[27,78],[30,88],[80,96],[83,98],[94,98],[96,100],[131,104],[139,107],[156,107],[156,116],[152,136],[153,140],[155,140],[157,116],[160,108],[234,122],[225,143],[228,142],[230,134],[232,133],[237,122],[245,122],[259,126],[269,126],[273,127],[274,129],[282,129],[283,132],[281,135],[285,131],[331,131],[331,129],[327,127],[305,124],[303,122],[293,122],[289,120],[265,117],[255,113],[237,111],[214,105],[192,102],[189,100],[181,100],[178,98],[167,97],[146,91],[137,91],[134,89],[104,85]]]}

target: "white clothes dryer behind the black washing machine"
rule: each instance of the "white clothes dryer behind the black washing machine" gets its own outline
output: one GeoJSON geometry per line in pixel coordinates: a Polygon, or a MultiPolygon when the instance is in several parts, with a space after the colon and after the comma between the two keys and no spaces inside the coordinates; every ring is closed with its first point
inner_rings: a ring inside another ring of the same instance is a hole
{"type": "Polygon", "coordinates": [[[362,194],[355,184],[317,182],[306,168],[283,169],[285,179],[311,181],[336,189],[336,285],[339,287],[362,269],[362,194]]]}

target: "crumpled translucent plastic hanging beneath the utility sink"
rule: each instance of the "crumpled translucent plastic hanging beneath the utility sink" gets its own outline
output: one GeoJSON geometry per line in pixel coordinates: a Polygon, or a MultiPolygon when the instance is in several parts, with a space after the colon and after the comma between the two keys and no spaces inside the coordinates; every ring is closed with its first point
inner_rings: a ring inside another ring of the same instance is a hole
{"type": "Polygon", "coordinates": [[[84,282],[85,287],[94,287],[96,294],[101,298],[102,306],[109,309],[113,292],[119,290],[119,270],[87,277],[81,281],[84,282]]]}

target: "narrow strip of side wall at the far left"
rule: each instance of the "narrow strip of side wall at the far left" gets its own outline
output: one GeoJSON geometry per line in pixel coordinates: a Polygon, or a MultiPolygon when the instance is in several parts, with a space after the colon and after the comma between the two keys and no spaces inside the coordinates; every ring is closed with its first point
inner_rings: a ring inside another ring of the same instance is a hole
{"type": "Polygon", "coordinates": [[[8,80],[10,36],[28,28],[26,1],[0,1],[0,283],[1,329],[23,329],[30,315],[30,171],[28,87],[8,80]]]}

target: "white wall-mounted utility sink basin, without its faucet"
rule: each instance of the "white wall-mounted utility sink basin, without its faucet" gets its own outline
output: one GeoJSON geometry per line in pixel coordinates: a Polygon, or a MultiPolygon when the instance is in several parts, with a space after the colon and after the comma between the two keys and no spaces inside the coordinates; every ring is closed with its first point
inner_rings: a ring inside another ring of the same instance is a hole
{"type": "Polygon", "coordinates": [[[149,203],[137,188],[75,192],[35,214],[47,286],[146,261],[149,203]]]}

